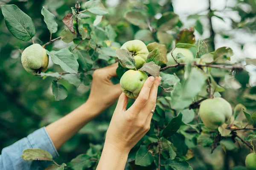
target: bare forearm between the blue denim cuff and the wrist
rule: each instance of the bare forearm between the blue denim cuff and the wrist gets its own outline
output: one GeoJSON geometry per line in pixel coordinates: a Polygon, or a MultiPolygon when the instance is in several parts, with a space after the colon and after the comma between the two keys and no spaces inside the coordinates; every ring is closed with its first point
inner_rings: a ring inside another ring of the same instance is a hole
{"type": "Polygon", "coordinates": [[[46,127],[47,133],[57,150],[84,125],[102,112],[101,108],[95,106],[95,103],[88,100],[76,110],[46,127]]]}

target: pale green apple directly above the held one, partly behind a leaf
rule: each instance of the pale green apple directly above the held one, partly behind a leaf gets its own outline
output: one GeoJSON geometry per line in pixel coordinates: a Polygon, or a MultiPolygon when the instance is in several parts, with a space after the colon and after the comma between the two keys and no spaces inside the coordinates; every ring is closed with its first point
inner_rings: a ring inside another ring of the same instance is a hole
{"type": "Polygon", "coordinates": [[[143,66],[149,54],[147,46],[141,40],[127,41],[122,45],[121,49],[130,51],[135,59],[137,69],[143,66]]]}

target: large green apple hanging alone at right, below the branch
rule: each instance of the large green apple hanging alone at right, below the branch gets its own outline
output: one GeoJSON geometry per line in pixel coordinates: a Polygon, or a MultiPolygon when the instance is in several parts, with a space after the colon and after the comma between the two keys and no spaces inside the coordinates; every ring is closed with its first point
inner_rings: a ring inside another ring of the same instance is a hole
{"type": "Polygon", "coordinates": [[[232,108],[227,100],[215,97],[200,103],[199,115],[204,125],[214,130],[231,118],[232,108]]]}

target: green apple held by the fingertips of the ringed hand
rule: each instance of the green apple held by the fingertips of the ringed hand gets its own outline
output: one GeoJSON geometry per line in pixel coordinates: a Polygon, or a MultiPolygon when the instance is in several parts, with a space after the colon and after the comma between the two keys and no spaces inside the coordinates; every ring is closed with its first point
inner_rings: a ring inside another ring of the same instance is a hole
{"type": "Polygon", "coordinates": [[[120,79],[121,90],[131,99],[136,99],[148,75],[143,71],[128,70],[120,79]]]}

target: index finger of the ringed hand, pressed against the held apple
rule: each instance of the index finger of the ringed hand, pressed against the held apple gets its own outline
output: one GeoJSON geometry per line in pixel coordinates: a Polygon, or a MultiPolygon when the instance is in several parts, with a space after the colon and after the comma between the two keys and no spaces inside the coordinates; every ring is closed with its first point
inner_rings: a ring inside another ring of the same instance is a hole
{"type": "Polygon", "coordinates": [[[149,77],[140,91],[138,98],[135,100],[134,104],[129,108],[131,113],[140,113],[140,111],[144,108],[146,102],[148,101],[149,93],[151,90],[151,86],[153,85],[154,77],[149,77]]]}

